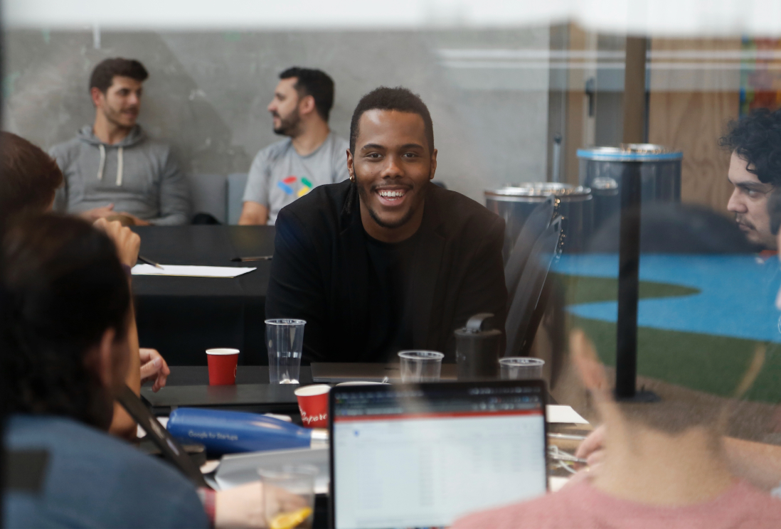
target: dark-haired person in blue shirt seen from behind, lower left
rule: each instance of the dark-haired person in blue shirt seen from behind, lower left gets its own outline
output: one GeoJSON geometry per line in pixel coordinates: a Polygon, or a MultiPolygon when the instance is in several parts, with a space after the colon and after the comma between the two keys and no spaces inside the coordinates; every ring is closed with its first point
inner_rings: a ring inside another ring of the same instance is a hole
{"type": "MultiPolygon", "coordinates": [[[[130,230],[119,231],[121,241],[130,230]]],[[[2,499],[4,526],[209,527],[209,514],[216,527],[266,527],[259,481],[196,492],[167,463],[105,434],[133,356],[127,247],[116,240],[56,215],[0,233],[5,447],[48,452],[41,492],[2,499]]]]}

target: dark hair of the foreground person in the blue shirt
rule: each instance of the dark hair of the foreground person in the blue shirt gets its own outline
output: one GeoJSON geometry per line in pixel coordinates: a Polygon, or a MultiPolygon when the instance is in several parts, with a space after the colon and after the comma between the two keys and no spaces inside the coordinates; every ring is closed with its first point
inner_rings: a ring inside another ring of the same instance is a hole
{"type": "Polygon", "coordinates": [[[0,238],[0,410],[108,428],[87,351],[127,336],[130,289],[109,237],[75,217],[22,218],[0,238]]]}

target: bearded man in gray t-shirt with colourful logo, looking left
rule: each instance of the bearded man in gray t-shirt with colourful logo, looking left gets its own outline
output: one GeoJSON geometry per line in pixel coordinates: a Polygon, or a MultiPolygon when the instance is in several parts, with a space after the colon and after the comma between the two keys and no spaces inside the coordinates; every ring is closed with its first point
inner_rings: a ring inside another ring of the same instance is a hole
{"type": "Polygon", "coordinates": [[[333,80],[317,69],[289,68],[269,105],[274,132],[287,136],[252,162],[239,224],[273,224],[280,209],[324,183],[348,179],[347,140],[328,127],[333,80]]]}

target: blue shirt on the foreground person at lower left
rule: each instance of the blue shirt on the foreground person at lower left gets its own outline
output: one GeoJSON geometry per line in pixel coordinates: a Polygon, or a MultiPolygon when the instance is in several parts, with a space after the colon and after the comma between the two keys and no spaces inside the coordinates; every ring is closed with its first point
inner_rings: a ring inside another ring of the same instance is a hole
{"type": "MultiPolygon", "coordinates": [[[[105,432],[66,417],[16,415],[6,439],[11,449],[48,451],[46,493],[35,512],[105,527],[205,525],[184,476],[105,432]]],[[[20,520],[30,520],[27,510],[20,520]]]]}

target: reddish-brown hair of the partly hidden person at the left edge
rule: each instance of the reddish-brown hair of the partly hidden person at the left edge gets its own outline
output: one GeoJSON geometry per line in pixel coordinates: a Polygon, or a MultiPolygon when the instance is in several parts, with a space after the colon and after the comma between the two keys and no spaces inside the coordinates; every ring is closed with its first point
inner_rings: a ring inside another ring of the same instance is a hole
{"type": "Polygon", "coordinates": [[[57,162],[9,132],[0,132],[0,224],[25,212],[42,213],[62,186],[57,162]]]}

